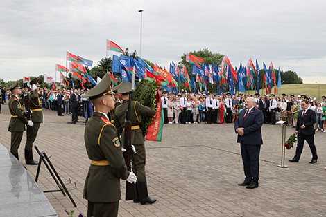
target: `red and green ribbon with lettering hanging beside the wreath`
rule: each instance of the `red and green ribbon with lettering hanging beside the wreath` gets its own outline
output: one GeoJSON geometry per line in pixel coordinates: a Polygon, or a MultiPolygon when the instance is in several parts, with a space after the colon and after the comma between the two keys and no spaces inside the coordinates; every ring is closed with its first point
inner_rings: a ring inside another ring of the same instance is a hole
{"type": "Polygon", "coordinates": [[[146,140],[149,141],[161,141],[162,131],[164,125],[164,112],[162,107],[160,91],[157,89],[157,94],[155,95],[155,104],[157,104],[156,113],[153,117],[153,122],[148,126],[146,140]]]}

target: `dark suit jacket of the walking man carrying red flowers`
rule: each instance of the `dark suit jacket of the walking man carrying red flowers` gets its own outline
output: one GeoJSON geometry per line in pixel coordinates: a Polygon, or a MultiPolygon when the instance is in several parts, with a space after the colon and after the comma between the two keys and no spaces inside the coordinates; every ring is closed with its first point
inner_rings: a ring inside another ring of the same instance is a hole
{"type": "Polygon", "coordinates": [[[299,111],[298,123],[297,128],[295,129],[298,131],[299,134],[302,135],[314,135],[314,123],[316,123],[316,113],[311,109],[308,109],[307,112],[304,114],[302,118],[303,110],[299,111]],[[301,129],[301,125],[304,124],[305,128],[301,129]]]}

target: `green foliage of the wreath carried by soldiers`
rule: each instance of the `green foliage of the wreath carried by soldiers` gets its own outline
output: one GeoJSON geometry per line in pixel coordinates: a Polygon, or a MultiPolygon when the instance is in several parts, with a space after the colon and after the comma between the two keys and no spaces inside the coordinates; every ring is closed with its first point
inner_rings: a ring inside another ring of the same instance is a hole
{"type": "MultiPolygon", "coordinates": [[[[132,100],[156,110],[157,106],[155,104],[155,96],[157,94],[157,88],[158,85],[156,82],[142,79],[139,83],[137,83],[132,100]]],[[[146,140],[148,126],[153,122],[152,119],[153,117],[141,117],[140,129],[143,132],[144,140],[146,140]]]]}

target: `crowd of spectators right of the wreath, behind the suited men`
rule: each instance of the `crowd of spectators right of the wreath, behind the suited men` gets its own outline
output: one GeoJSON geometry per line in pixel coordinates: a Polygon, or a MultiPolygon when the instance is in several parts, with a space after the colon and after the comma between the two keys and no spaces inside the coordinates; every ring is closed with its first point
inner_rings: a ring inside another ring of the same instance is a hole
{"type": "Polygon", "coordinates": [[[316,113],[316,131],[326,133],[326,97],[319,102],[316,97],[305,95],[286,95],[282,97],[271,95],[221,95],[207,93],[194,94],[182,91],[180,94],[162,92],[162,107],[166,124],[223,124],[237,120],[244,108],[247,97],[254,97],[257,109],[264,114],[264,124],[275,124],[279,120],[286,120],[288,126],[296,127],[298,112],[302,110],[301,102],[306,99],[309,109],[316,113]]]}

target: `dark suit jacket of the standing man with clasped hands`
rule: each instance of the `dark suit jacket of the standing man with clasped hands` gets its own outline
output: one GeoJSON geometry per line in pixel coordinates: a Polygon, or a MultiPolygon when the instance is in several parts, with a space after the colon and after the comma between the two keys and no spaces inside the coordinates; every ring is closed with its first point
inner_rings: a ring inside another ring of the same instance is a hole
{"type": "Polygon", "coordinates": [[[259,109],[253,107],[250,113],[248,113],[246,120],[243,121],[246,111],[247,109],[243,109],[234,123],[236,133],[238,128],[244,128],[244,135],[238,135],[237,142],[242,142],[243,144],[261,145],[263,144],[263,140],[261,138],[261,126],[264,122],[264,115],[259,109]]]}

